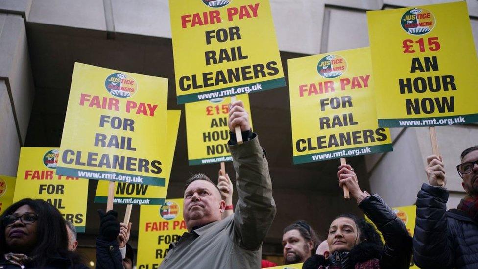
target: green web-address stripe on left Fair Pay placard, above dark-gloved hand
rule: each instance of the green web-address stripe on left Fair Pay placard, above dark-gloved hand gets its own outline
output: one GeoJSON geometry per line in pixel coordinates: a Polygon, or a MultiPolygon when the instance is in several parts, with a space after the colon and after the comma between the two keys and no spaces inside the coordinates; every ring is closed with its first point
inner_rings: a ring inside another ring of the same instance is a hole
{"type": "Polygon", "coordinates": [[[67,167],[57,167],[56,174],[64,175],[64,176],[89,178],[89,179],[118,181],[118,182],[125,182],[125,183],[134,183],[134,184],[145,184],[145,185],[160,186],[160,187],[166,186],[166,180],[162,177],[141,176],[141,175],[125,174],[125,173],[110,172],[110,171],[95,171],[95,170],[84,170],[84,169],[75,169],[75,168],[67,168],[67,167]],[[84,173],[86,173],[87,175],[84,175],[84,173]]]}

